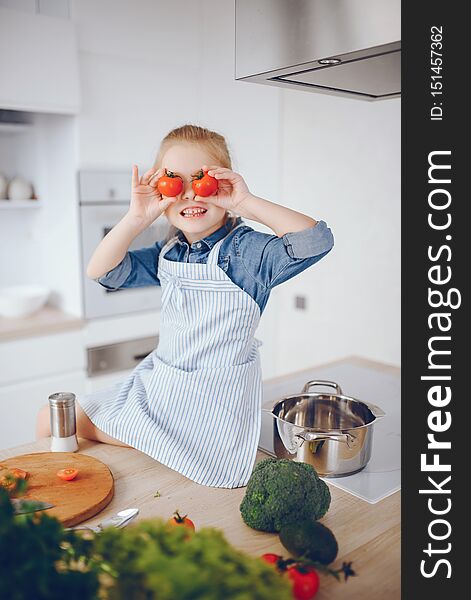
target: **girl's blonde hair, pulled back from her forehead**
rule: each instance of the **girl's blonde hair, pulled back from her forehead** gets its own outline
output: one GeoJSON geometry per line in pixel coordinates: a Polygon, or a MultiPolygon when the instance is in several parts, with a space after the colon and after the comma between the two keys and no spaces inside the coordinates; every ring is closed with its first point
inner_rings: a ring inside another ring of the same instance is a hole
{"type": "MultiPolygon", "coordinates": [[[[231,155],[224,136],[215,131],[211,131],[210,129],[206,129],[205,127],[199,127],[198,125],[182,125],[181,127],[169,131],[160,143],[154,161],[154,167],[160,169],[162,166],[162,158],[167,150],[174,144],[182,143],[203,146],[208,154],[214,158],[215,162],[219,163],[222,167],[232,169],[231,155]]],[[[228,221],[231,221],[229,225],[232,229],[237,221],[237,216],[232,215],[227,211],[225,223],[228,221]]],[[[171,225],[166,240],[174,237],[178,231],[177,227],[171,225]]]]}

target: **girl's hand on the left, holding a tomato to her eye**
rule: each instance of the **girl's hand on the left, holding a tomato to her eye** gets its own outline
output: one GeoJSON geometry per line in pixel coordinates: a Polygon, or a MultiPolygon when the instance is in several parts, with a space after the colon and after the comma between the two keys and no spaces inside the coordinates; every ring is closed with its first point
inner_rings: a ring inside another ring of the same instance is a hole
{"type": "Polygon", "coordinates": [[[176,198],[162,196],[157,189],[162,175],[165,175],[165,169],[152,168],[139,177],[137,165],[132,167],[132,193],[128,214],[147,227],[160,217],[167,206],[176,201],[176,198]]]}

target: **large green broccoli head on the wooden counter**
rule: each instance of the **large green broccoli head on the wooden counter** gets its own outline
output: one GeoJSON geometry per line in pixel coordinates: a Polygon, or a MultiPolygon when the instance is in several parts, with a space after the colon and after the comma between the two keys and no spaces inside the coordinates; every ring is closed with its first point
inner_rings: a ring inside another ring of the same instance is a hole
{"type": "Polygon", "coordinates": [[[253,529],[278,532],[303,517],[320,519],[330,506],[330,491],[311,465],[285,458],[266,458],[252,471],[240,505],[253,529]]]}

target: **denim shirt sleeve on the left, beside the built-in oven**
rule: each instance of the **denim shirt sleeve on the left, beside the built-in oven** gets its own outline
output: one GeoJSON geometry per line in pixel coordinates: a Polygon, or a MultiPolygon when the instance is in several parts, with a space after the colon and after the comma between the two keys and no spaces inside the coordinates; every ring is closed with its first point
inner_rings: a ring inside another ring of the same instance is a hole
{"type": "Polygon", "coordinates": [[[128,250],[123,260],[114,269],[95,281],[108,290],[160,285],[157,266],[163,244],[164,242],[161,241],[148,248],[128,250]]]}

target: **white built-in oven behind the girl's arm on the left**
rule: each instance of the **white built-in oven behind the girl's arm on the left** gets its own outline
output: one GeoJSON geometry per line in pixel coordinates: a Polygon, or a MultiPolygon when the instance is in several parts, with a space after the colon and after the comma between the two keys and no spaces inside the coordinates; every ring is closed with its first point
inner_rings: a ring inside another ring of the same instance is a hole
{"type": "MultiPolygon", "coordinates": [[[[107,290],[86,275],[95,248],[126,214],[130,194],[131,170],[79,172],[81,272],[86,319],[160,308],[160,286],[107,290]]],[[[152,246],[166,236],[168,227],[167,219],[159,217],[133,241],[130,249],[152,246]]]]}

